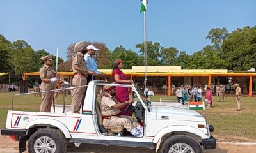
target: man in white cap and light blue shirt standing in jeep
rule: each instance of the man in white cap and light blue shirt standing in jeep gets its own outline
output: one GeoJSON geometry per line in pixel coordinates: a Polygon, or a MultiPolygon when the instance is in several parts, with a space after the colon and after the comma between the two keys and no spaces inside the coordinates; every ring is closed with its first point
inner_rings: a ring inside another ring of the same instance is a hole
{"type": "MultiPolygon", "coordinates": [[[[97,62],[95,60],[95,57],[93,57],[96,54],[96,51],[99,49],[97,49],[93,45],[88,45],[86,49],[87,49],[87,53],[84,55],[84,58],[85,58],[87,69],[89,71],[93,71],[97,76],[103,76],[103,73],[97,71],[97,62]]],[[[88,84],[90,81],[95,80],[95,77],[93,78],[92,77],[93,77],[92,75],[87,76],[88,84]]]]}

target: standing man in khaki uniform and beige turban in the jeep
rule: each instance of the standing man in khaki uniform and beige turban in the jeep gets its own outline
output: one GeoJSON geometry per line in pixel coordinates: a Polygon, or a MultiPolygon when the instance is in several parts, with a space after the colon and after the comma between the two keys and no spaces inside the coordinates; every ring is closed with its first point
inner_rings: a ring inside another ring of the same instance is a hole
{"type": "MultiPolygon", "coordinates": [[[[87,52],[86,42],[79,41],[74,47],[75,55],[72,57],[72,69],[74,72],[74,78],[72,80],[72,86],[77,87],[87,84],[87,73],[93,75],[93,71],[86,69],[86,62],[84,54],[87,52]]],[[[79,87],[72,90],[72,113],[79,113],[81,105],[83,104],[85,87],[79,87]]]]}

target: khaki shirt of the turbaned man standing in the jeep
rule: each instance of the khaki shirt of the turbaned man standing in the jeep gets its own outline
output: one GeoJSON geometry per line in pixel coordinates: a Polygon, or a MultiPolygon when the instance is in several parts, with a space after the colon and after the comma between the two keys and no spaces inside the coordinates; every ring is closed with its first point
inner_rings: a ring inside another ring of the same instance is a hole
{"type": "Polygon", "coordinates": [[[74,73],[84,73],[79,72],[76,69],[74,69],[74,66],[78,66],[80,68],[86,69],[86,62],[84,59],[84,55],[81,54],[81,52],[77,52],[77,54],[73,55],[72,57],[72,69],[74,73]]]}

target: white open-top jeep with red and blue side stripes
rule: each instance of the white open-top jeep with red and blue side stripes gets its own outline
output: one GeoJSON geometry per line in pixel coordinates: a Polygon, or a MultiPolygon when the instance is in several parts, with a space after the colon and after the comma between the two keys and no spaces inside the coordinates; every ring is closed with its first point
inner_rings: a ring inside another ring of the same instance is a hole
{"type": "MultiPolygon", "coordinates": [[[[72,90],[71,88],[65,90],[72,90]]],[[[53,110],[53,108],[52,108],[53,110]]],[[[20,152],[56,152],[67,150],[68,143],[92,143],[131,147],[160,148],[160,152],[195,152],[215,149],[216,140],[211,136],[213,126],[209,126],[204,117],[194,110],[172,106],[152,105],[145,98],[138,85],[108,84],[104,81],[92,81],[84,99],[81,113],[71,113],[68,105],[55,105],[54,112],[8,112],[6,128],[1,135],[16,136],[20,152]],[[104,127],[100,101],[104,85],[128,87],[137,96],[138,101],[128,107],[138,122],[144,127],[143,137],[136,138],[124,129],[124,126],[104,127]],[[100,128],[101,127],[101,128],[100,128]]]]}

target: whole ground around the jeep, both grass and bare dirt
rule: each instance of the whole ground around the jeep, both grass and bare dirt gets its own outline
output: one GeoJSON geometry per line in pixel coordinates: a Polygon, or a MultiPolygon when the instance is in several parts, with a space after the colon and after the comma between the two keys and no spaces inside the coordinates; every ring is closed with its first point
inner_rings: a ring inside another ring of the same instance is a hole
{"type": "MultiPolygon", "coordinates": [[[[0,93],[0,128],[6,124],[6,115],[11,108],[12,96],[16,93],[0,93]]],[[[159,98],[175,98],[174,96],[152,96],[152,101],[159,101],[159,98]]],[[[70,103],[71,96],[67,96],[67,104],[70,103]]],[[[218,97],[213,97],[212,108],[207,108],[205,112],[199,111],[202,115],[206,113],[207,122],[214,125],[212,135],[217,139],[217,148],[205,150],[204,153],[238,153],[253,152],[256,149],[256,98],[241,98],[242,110],[236,112],[236,102],[233,97],[227,96],[225,101],[217,102],[218,97]]],[[[34,95],[17,97],[14,99],[15,110],[38,111],[40,107],[40,97],[34,95]]],[[[58,95],[57,103],[61,104],[63,95],[58,95]]],[[[177,108],[179,109],[179,108],[177,108]]],[[[11,140],[8,136],[0,137],[0,152],[18,152],[19,142],[11,140]],[[3,143],[8,142],[8,143],[3,143]]],[[[79,148],[69,147],[68,152],[155,152],[155,150],[134,148],[134,147],[115,147],[103,145],[86,145],[79,148]]]]}

